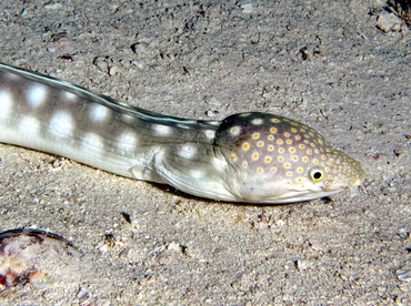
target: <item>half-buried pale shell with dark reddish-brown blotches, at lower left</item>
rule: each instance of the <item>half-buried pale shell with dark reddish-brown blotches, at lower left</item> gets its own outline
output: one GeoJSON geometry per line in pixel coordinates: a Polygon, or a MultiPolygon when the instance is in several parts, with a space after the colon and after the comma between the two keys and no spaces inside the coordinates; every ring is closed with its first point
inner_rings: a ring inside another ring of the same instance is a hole
{"type": "MultiPolygon", "coordinates": [[[[46,231],[16,228],[0,233],[0,288],[67,282],[80,267],[80,252],[66,238],[46,231]],[[60,278],[60,279],[59,279],[60,278]],[[64,278],[64,279],[63,279],[64,278]]],[[[76,277],[74,277],[76,278],[76,277]]]]}

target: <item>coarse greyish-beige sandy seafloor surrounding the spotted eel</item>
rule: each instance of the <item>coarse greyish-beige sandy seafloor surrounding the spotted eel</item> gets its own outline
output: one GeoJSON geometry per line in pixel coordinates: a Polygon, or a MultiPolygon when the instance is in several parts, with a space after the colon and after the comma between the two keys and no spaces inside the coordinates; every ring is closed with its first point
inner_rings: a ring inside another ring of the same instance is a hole
{"type": "Polygon", "coordinates": [[[375,27],[383,1],[221,2],[1,1],[0,60],[163,114],[302,121],[363,164],[359,196],[219,203],[1,144],[0,230],[79,254],[0,305],[411,305],[410,31],[375,27]]]}

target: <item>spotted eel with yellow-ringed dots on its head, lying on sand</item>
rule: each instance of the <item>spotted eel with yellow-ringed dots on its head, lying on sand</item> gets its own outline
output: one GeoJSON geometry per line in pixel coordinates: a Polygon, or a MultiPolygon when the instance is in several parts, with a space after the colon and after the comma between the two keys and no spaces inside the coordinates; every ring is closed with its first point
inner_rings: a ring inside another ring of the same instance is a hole
{"type": "Polygon", "coordinates": [[[364,172],[313,129],[268,113],[164,116],[0,64],[0,142],[228,202],[355,193],[364,172]]]}

